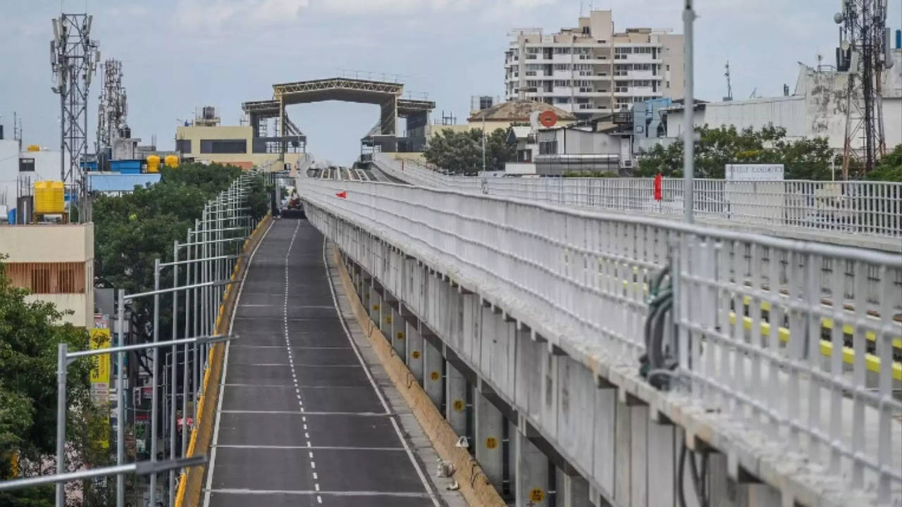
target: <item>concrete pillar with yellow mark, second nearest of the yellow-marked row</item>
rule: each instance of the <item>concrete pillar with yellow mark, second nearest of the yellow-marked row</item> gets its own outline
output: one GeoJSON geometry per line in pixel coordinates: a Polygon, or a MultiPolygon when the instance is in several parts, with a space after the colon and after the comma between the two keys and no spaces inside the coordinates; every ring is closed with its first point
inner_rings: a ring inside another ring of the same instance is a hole
{"type": "Polygon", "coordinates": [[[475,435],[473,447],[476,461],[483,467],[485,476],[499,492],[504,480],[504,454],[502,438],[504,434],[504,415],[492,401],[489,401],[479,387],[473,388],[473,406],[475,417],[475,435]]]}

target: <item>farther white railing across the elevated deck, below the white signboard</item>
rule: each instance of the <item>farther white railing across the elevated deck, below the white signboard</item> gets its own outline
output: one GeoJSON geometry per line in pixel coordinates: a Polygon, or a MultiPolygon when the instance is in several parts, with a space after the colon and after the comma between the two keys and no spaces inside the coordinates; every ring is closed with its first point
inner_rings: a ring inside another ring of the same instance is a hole
{"type": "MultiPolygon", "coordinates": [[[[423,186],[529,198],[567,206],[597,207],[683,217],[684,183],[662,181],[654,198],[649,178],[491,178],[449,176],[415,161],[379,154],[382,171],[423,186]]],[[[695,180],[695,217],[710,225],[810,230],[869,235],[902,251],[902,183],[886,181],[695,180]],[[900,241],[897,241],[900,240],[900,241]]]]}

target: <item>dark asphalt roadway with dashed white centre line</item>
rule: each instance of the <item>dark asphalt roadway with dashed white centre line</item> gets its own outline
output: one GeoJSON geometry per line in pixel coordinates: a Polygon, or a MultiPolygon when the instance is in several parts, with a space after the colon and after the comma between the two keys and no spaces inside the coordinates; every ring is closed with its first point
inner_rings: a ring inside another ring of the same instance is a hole
{"type": "Polygon", "coordinates": [[[274,222],[241,289],[204,505],[438,505],[336,310],[323,236],[274,222]]]}

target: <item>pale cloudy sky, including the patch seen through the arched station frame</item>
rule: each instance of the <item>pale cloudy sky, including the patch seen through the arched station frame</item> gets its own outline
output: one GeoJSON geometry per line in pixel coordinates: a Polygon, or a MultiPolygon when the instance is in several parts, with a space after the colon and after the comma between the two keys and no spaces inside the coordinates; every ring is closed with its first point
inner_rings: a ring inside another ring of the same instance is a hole
{"type": "MultiPolygon", "coordinates": [[[[499,96],[512,28],[573,26],[581,8],[613,9],[615,29],[682,32],[680,0],[0,0],[0,122],[23,118],[25,143],[59,146],[59,99],[51,92],[51,18],[94,14],[102,58],[124,63],[133,135],[174,147],[179,120],[216,106],[236,124],[245,100],[272,96],[274,82],[327,78],[341,69],[399,76],[405,89],[437,102],[434,117],[465,121],[470,96],[499,96]]],[[[889,23],[902,24],[890,0],[889,23]]],[[[838,0],[695,0],[697,97],[779,95],[795,84],[798,61],[833,60],[838,0]]],[[[99,94],[90,91],[93,150],[99,94]]],[[[350,162],[378,120],[378,106],[326,102],[291,106],[318,160],[350,162]]],[[[9,134],[7,134],[9,135],[9,134]]]]}

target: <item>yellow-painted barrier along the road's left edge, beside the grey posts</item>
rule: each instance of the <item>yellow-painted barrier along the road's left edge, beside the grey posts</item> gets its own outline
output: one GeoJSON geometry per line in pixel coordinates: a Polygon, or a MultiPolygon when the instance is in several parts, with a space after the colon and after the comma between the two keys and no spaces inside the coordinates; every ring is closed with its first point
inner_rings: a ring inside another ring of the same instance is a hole
{"type": "MultiPolygon", "coordinates": [[[[241,276],[242,272],[246,271],[247,266],[245,264],[245,259],[248,258],[246,254],[250,253],[250,251],[253,250],[253,247],[260,241],[262,231],[266,230],[266,227],[269,226],[271,221],[272,217],[267,213],[266,217],[263,217],[260,223],[253,229],[253,233],[244,240],[244,244],[242,245],[243,256],[239,257],[238,262],[235,263],[235,269],[232,270],[232,276],[229,280],[235,281],[235,279],[241,276]]],[[[234,283],[226,285],[226,291],[223,293],[223,300],[219,304],[219,312],[216,315],[215,327],[216,334],[219,335],[228,332],[229,321],[227,317],[234,311],[235,307],[233,287],[235,287],[234,283]]],[[[207,357],[207,368],[204,369],[204,381],[201,384],[201,394],[198,398],[198,420],[194,421],[194,426],[191,429],[188,450],[185,453],[186,457],[194,456],[198,451],[204,452],[209,447],[209,438],[212,432],[211,421],[214,419],[214,410],[216,410],[215,401],[219,395],[219,376],[223,370],[222,361],[224,350],[225,344],[221,342],[210,347],[209,356],[207,357]],[[211,382],[211,375],[216,377],[214,379],[215,382],[211,382]],[[207,402],[207,400],[209,400],[209,402],[207,402]],[[207,412],[210,413],[207,414],[207,412]],[[198,447],[200,448],[198,449],[198,447]]],[[[176,490],[175,497],[175,504],[177,507],[184,507],[185,505],[194,507],[198,505],[201,493],[200,484],[203,481],[206,469],[206,466],[192,466],[179,475],[179,486],[176,490]],[[189,484],[193,484],[195,487],[189,488],[189,484]]]]}

